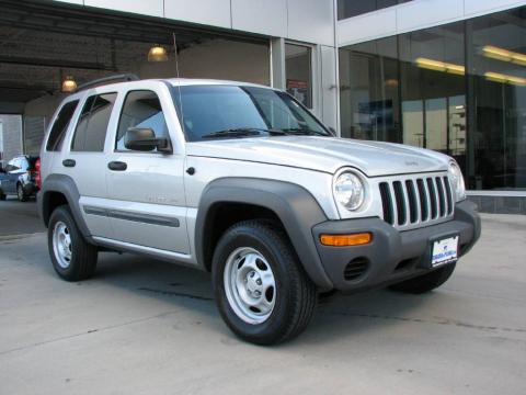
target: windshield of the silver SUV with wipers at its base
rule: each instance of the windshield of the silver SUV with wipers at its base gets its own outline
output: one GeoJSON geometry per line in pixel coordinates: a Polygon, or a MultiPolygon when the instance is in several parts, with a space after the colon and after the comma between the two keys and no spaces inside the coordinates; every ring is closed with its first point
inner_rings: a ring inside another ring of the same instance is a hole
{"type": "Polygon", "coordinates": [[[331,135],[290,95],[272,89],[183,86],[181,94],[179,88],[174,93],[190,142],[287,134],[331,135]]]}

